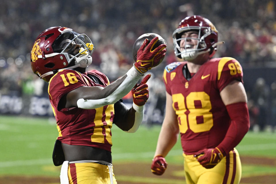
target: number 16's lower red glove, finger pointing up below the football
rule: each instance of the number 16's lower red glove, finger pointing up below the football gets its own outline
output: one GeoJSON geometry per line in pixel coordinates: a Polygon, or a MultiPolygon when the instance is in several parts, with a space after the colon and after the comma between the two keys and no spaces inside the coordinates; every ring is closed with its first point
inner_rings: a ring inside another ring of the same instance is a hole
{"type": "Polygon", "coordinates": [[[137,106],[143,106],[149,98],[149,89],[146,82],[149,80],[151,74],[147,74],[140,84],[136,84],[131,90],[133,103],[137,106]]]}

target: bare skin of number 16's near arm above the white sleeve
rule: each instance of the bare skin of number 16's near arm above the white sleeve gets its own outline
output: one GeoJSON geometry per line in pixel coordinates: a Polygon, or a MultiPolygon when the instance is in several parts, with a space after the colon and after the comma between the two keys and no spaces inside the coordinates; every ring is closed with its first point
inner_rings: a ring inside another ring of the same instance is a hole
{"type": "Polygon", "coordinates": [[[70,108],[70,107],[77,107],[77,101],[78,99],[102,99],[108,97],[110,94],[112,94],[119,86],[120,84],[124,81],[124,79],[127,77],[127,74],[122,76],[121,78],[117,79],[110,85],[106,87],[99,87],[99,86],[94,86],[94,87],[87,87],[87,86],[82,86],[77,89],[74,89],[67,93],[66,95],[66,101],[65,103],[65,108],[70,108]]]}

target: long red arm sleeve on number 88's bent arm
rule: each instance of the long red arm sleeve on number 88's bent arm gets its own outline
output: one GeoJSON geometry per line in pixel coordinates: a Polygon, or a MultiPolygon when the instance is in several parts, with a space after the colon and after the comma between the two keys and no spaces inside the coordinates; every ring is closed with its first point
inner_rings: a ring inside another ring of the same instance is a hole
{"type": "Polygon", "coordinates": [[[244,135],[248,132],[249,114],[246,102],[229,104],[226,106],[231,118],[231,124],[223,141],[217,146],[225,156],[239,144],[244,135]]]}

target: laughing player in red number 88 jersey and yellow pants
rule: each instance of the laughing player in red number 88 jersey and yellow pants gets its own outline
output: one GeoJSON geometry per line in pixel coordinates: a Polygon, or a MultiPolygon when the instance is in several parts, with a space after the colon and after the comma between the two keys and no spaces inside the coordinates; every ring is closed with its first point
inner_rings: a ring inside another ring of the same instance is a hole
{"type": "Polygon", "coordinates": [[[202,16],[183,19],[173,43],[184,61],[164,70],[166,112],[152,173],[164,173],[165,157],[180,132],[187,184],[239,183],[235,146],[249,129],[241,65],[231,57],[212,58],[221,42],[215,26],[202,16]]]}

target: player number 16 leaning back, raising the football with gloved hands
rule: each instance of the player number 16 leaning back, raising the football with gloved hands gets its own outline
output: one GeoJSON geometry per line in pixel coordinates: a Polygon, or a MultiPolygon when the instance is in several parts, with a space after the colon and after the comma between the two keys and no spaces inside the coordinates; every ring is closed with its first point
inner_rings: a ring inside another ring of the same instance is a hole
{"type": "MultiPolygon", "coordinates": [[[[158,37],[145,40],[137,60],[150,62],[145,70],[157,66],[166,54],[166,45],[151,50],[158,37]]],[[[143,120],[148,95],[147,80],[136,62],[121,78],[109,83],[106,75],[86,71],[92,62],[93,44],[85,34],[67,27],[43,31],[31,51],[31,67],[49,83],[48,94],[57,121],[58,137],[53,162],[62,164],[61,183],[116,183],[112,169],[111,127],[135,132],[143,120]],[[133,106],[120,99],[132,91],[133,106]]]]}

